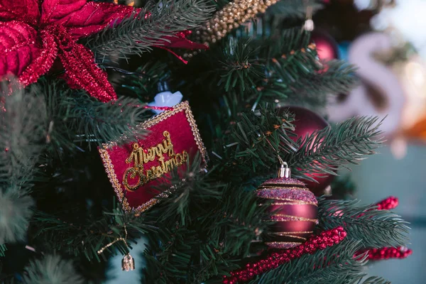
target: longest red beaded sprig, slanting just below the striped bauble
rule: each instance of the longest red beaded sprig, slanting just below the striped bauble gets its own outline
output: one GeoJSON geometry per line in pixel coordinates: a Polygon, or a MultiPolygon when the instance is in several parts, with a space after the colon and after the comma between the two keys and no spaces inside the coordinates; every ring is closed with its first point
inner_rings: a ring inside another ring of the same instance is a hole
{"type": "Polygon", "coordinates": [[[224,284],[236,284],[239,282],[245,282],[255,278],[257,275],[266,273],[273,268],[277,268],[281,264],[288,263],[295,258],[306,253],[315,253],[319,249],[325,249],[328,246],[339,244],[346,237],[346,231],[342,226],[338,226],[335,229],[322,231],[317,236],[312,236],[304,244],[296,246],[292,249],[285,249],[269,253],[266,258],[261,261],[253,263],[247,263],[246,268],[238,271],[232,271],[231,276],[224,276],[222,283],[224,284]]]}

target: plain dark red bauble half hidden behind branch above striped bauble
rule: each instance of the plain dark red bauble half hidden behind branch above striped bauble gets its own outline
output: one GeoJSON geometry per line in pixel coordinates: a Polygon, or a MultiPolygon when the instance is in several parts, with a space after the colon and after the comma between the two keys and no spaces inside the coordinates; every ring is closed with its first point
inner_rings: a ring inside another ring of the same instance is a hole
{"type": "MultiPolygon", "coordinates": [[[[314,131],[324,129],[329,124],[325,119],[323,119],[315,112],[305,109],[304,107],[282,107],[281,109],[288,109],[291,113],[295,114],[295,121],[293,122],[295,126],[294,133],[297,134],[295,137],[291,137],[293,141],[297,141],[299,138],[305,138],[307,134],[311,134],[314,131]]],[[[324,194],[326,187],[332,183],[334,175],[318,175],[311,174],[317,182],[310,180],[302,180],[305,182],[307,188],[309,188],[315,195],[320,196],[324,194]],[[321,176],[321,177],[320,177],[321,176]]]]}

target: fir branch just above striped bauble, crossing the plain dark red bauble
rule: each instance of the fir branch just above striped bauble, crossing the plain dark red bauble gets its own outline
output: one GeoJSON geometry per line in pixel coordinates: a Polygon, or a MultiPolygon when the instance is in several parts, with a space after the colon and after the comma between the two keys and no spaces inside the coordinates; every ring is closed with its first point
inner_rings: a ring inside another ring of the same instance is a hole
{"type": "Polygon", "coordinates": [[[347,163],[357,163],[381,146],[377,118],[349,119],[315,131],[297,143],[290,139],[293,119],[286,111],[278,114],[273,106],[261,108],[260,114],[241,113],[231,126],[230,135],[224,136],[224,151],[214,152],[219,160],[226,161],[219,173],[233,168],[226,178],[244,178],[244,173],[258,171],[258,168],[271,169],[279,153],[292,165],[295,177],[312,180],[312,173],[335,175],[334,170],[347,163]]]}

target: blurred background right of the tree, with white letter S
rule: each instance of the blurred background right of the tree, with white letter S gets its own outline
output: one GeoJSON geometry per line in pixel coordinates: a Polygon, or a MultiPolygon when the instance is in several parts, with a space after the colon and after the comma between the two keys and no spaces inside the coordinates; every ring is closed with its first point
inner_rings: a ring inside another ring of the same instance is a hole
{"type": "Polygon", "coordinates": [[[352,167],[363,203],[394,195],[411,223],[413,255],[373,263],[371,275],[392,283],[425,283],[426,271],[426,1],[329,0],[314,16],[320,57],[359,66],[361,84],[329,102],[330,121],[385,117],[386,146],[352,167]]]}

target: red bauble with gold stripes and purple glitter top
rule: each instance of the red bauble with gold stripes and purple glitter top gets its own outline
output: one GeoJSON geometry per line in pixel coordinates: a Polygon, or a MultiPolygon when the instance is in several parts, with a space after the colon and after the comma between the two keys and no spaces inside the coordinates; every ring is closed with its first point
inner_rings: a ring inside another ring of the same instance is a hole
{"type": "MultiPolygon", "coordinates": [[[[274,178],[263,182],[256,194],[271,200],[268,208],[271,225],[266,233],[266,244],[275,249],[302,244],[312,235],[317,224],[318,202],[303,182],[293,178],[274,178]]],[[[262,204],[261,204],[262,205],[262,204]]]]}

